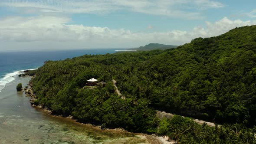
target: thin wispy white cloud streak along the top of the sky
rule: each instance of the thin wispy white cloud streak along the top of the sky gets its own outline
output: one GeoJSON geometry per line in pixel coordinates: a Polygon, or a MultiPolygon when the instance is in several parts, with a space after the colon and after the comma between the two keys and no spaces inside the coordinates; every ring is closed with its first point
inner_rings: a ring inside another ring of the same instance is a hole
{"type": "Polygon", "coordinates": [[[197,19],[200,10],[221,8],[213,0],[2,0],[2,7],[16,7],[27,13],[95,13],[106,14],[128,10],[158,16],[197,19]],[[193,11],[191,11],[191,9],[193,11]]]}

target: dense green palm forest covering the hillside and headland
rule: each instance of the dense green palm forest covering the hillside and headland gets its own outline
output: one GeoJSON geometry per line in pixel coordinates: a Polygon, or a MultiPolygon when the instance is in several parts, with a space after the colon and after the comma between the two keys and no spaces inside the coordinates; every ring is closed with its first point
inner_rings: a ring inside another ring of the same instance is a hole
{"type": "Polygon", "coordinates": [[[179,143],[255,143],[256,26],[193,39],[175,49],[46,61],[33,79],[36,104],[107,128],[168,135],[179,143]],[[85,89],[86,80],[107,82],[85,89]],[[125,99],[115,93],[112,80],[125,99]],[[156,110],[190,118],[159,120],[156,110]],[[214,141],[214,142],[213,142],[214,141]]]}

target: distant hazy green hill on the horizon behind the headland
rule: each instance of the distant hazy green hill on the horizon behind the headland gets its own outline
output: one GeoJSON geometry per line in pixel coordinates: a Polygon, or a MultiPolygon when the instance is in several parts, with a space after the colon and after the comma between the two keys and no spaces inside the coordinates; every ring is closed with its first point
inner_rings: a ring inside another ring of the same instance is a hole
{"type": "Polygon", "coordinates": [[[178,46],[173,46],[173,45],[164,45],[164,44],[159,44],[159,43],[150,43],[146,46],[140,46],[138,48],[133,48],[133,49],[128,49],[128,50],[137,50],[137,51],[149,51],[153,49],[173,49],[177,48],[178,46]]]}

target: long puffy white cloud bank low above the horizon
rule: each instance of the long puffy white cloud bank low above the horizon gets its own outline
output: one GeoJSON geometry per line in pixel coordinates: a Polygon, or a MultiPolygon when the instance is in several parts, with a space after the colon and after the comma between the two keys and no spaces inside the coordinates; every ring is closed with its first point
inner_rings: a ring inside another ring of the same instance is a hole
{"type": "Polygon", "coordinates": [[[16,43],[17,46],[27,42],[35,42],[38,45],[62,43],[67,48],[135,47],[147,43],[182,45],[197,37],[218,36],[235,27],[256,24],[256,22],[230,20],[224,17],[214,23],[206,21],[206,28],[196,26],[190,31],[136,33],[128,29],[66,24],[69,21],[67,17],[57,16],[0,19],[0,41],[16,43]]]}

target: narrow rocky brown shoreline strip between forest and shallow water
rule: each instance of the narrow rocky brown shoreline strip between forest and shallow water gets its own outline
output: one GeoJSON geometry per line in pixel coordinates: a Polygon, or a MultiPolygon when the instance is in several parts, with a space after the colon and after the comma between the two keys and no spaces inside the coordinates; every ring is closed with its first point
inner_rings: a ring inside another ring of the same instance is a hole
{"type": "Polygon", "coordinates": [[[25,95],[26,97],[29,97],[30,100],[30,104],[33,106],[33,108],[35,108],[38,111],[43,112],[45,115],[48,115],[50,117],[53,118],[61,118],[65,121],[69,121],[81,126],[84,126],[86,128],[91,128],[94,129],[95,131],[101,131],[101,132],[111,132],[111,133],[123,133],[123,134],[131,134],[134,135],[135,137],[141,137],[142,139],[145,139],[146,141],[148,141],[150,144],[175,144],[174,141],[168,141],[168,137],[167,136],[157,136],[156,134],[144,134],[144,133],[133,133],[130,131],[126,131],[123,128],[115,128],[115,129],[110,129],[110,128],[105,128],[102,129],[101,125],[94,125],[94,124],[89,124],[89,123],[80,123],[77,119],[74,119],[71,115],[69,115],[68,117],[63,117],[62,115],[53,115],[52,111],[50,111],[48,108],[43,108],[42,105],[35,105],[34,101],[36,100],[36,95],[34,94],[33,90],[32,90],[32,80],[35,78],[36,75],[31,76],[31,79],[28,83],[28,87],[26,88],[25,91],[25,95]]]}

